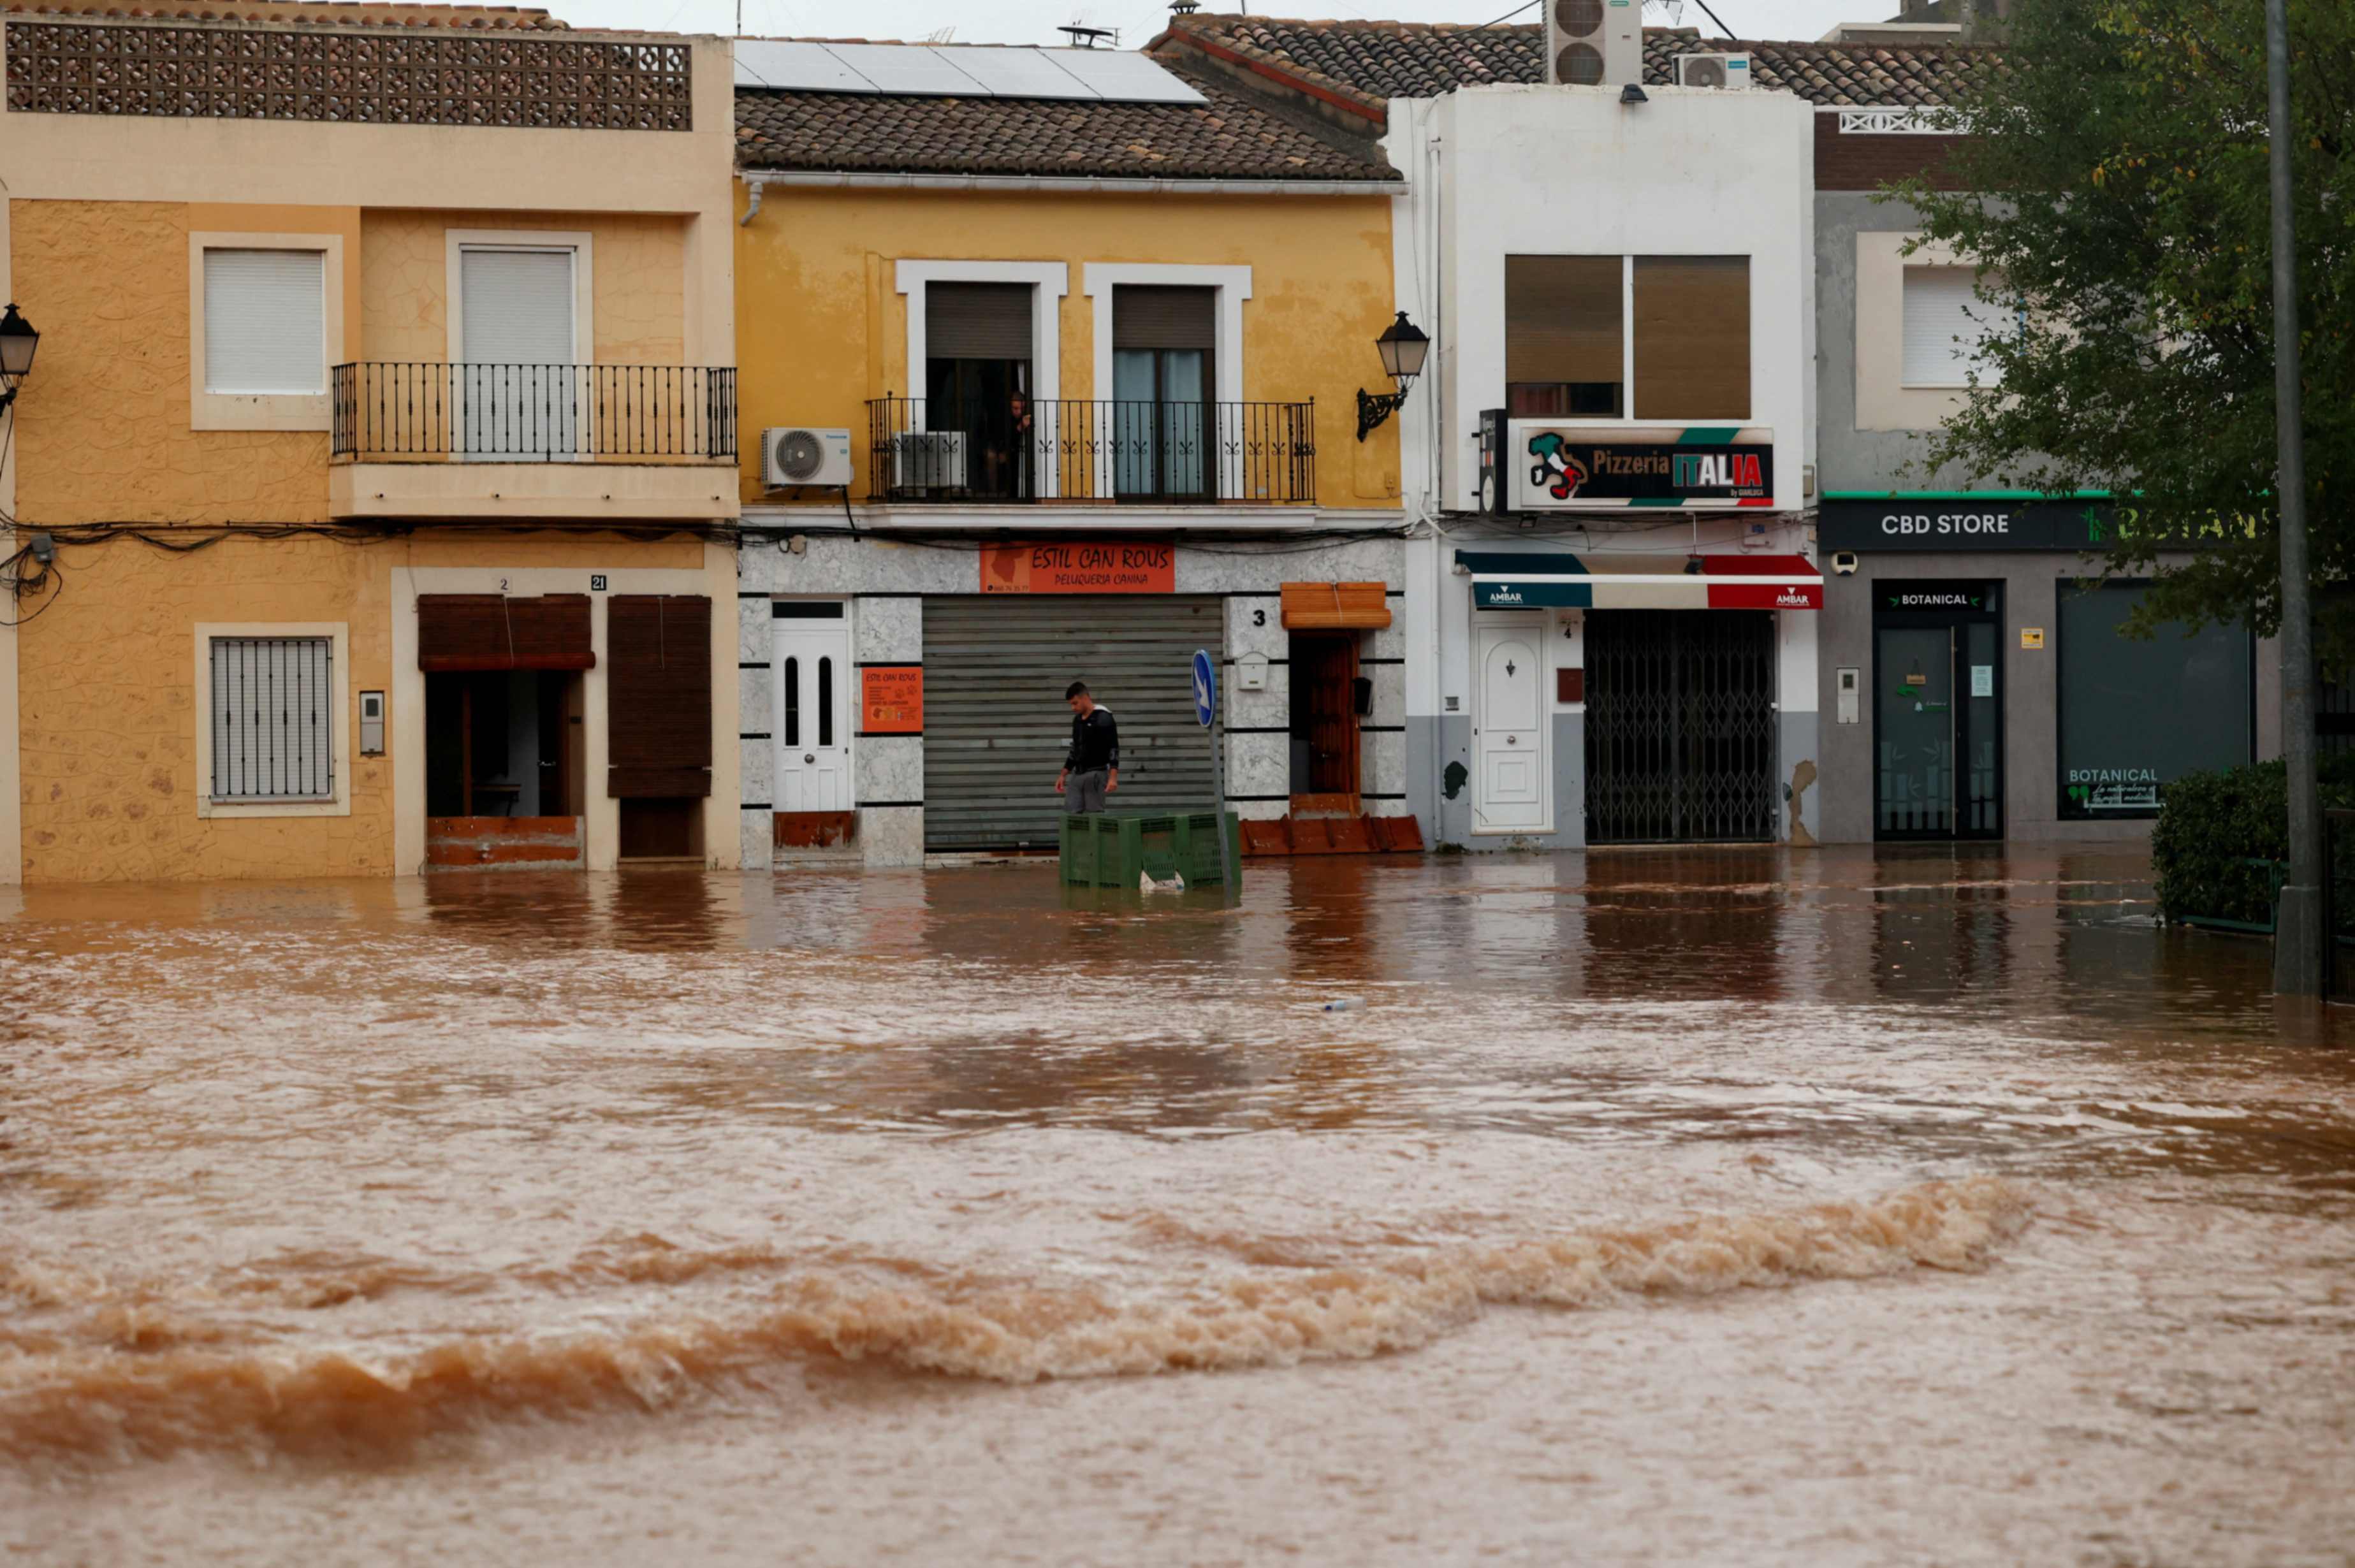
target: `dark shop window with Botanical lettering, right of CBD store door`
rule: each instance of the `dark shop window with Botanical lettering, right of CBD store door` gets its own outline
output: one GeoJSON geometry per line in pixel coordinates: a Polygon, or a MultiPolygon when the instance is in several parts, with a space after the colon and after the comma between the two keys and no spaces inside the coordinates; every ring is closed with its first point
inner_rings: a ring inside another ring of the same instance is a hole
{"type": "Polygon", "coordinates": [[[2162,784],[2256,751],[2249,629],[2167,622],[2152,640],[2129,638],[2143,593],[2061,589],[2061,817],[2155,817],[2162,784]]]}

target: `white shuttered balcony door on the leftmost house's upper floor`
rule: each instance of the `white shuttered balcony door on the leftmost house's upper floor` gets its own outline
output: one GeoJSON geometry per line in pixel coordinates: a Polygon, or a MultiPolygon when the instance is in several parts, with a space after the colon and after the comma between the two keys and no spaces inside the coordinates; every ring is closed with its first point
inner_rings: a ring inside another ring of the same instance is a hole
{"type": "Polygon", "coordinates": [[[455,398],[466,457],[556,461],[582,457],[582,377],[570,250],[459,252],[455,398]]]}

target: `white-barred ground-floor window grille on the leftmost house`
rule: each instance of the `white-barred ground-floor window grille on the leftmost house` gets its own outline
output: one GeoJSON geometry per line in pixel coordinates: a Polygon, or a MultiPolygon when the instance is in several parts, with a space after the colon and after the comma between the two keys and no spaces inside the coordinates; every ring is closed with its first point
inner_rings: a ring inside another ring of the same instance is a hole
{"type": "Polygon", "coordinates": [[[332,638],[212,638],[212,798],[334,798],[332,638]]]}

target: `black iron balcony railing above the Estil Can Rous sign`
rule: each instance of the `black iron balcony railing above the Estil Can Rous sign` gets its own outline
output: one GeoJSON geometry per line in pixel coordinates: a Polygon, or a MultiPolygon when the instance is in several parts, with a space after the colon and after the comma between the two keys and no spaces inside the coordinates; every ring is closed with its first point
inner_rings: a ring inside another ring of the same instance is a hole
{"type": "Polygon", "coordinates": [[[1314,403],[876,398],[878,501],[1312,506],[1314,403]]]}

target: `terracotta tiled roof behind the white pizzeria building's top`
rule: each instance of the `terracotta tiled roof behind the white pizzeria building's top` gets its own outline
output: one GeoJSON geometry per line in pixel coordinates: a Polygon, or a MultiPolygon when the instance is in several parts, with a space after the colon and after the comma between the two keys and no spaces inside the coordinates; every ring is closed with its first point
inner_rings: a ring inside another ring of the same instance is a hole
{"type": "MultiPolygon", "coordinates": [[[[1286,21],[1274,16],[1178,16],[1156,42],[1213,45],[1246,64],[1295,75],[1333,97],[1380,111],[1385,99],[1429,99],[1455,87],[1545,80],[1545,26],[1432,21],[1286,21]]],[[[1677,57],[1745,49],[1759,87],[1837,108],[1912,108],[1992,71],[1992,45],[1736,42],[1686,28],[1646,28],[1644,82],[1677,80],[1677,57]]]]}

